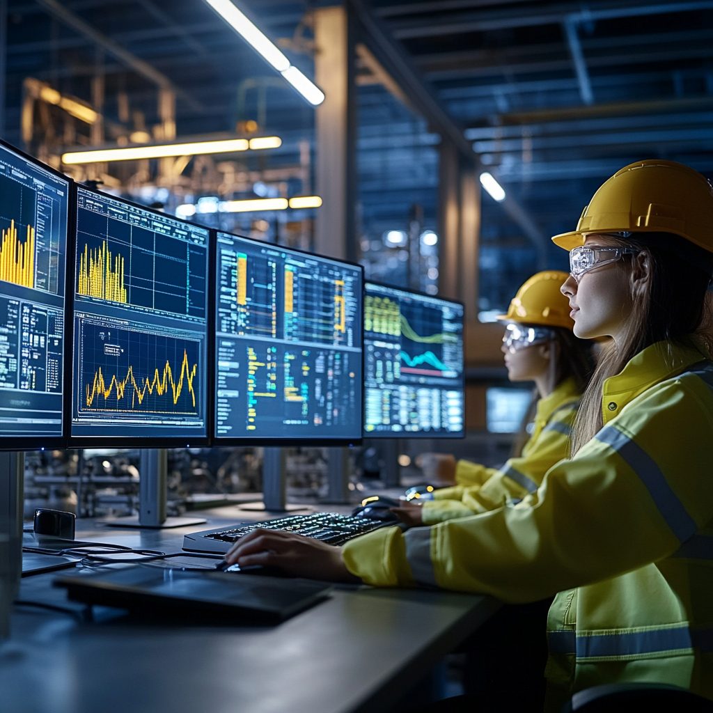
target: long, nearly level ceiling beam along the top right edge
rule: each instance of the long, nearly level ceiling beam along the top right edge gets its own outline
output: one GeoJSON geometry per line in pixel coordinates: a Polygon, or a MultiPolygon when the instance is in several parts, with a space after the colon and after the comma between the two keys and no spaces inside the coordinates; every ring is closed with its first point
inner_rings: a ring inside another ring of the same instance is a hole
{"type": "MultiPolygon", "coordinates": [[[[438,22],[436,17],[428,17],[422,23],[409,23],[408,26],[397,26],[392,31],[396,39],[414,39],[416,37],[435,37],[466,32],[487,32],[492,30],[514,29],[515,27],[537,27],[542,25],[560,25],[568,17],[578,22],[593,22],[611,20],[622,17],[640,17],[674,12],[689,12],[694,10],[713,9],[713,0],[693,0],[689,2],[651,4],[645,6],[622,7],[620,3],[607,3],[606,6],[594,6],[593,9],[580,10],[578,6],[567,4],[550,11],[539,13],[513,12],[512,10],[491,13],[490,17],[482,19],[453,19],[438,22]]],[[[483,14],[485,15],[485,14],[483,14]]]]}

